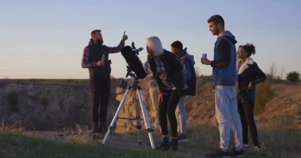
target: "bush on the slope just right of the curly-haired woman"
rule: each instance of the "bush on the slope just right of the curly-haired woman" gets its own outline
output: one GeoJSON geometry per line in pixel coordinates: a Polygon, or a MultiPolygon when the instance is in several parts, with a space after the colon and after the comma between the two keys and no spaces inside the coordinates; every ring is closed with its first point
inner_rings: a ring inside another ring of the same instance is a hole
{"type": "Polygon", "coordinates": [[[272,98],[273,93],[274,91],[272,90],[272,79],[270,79],[269,76],[267,76],[267,79],[264,82],[256,85],[256,100],[254,107],[255,115],[263,112],[265,104],[272,98]]]}

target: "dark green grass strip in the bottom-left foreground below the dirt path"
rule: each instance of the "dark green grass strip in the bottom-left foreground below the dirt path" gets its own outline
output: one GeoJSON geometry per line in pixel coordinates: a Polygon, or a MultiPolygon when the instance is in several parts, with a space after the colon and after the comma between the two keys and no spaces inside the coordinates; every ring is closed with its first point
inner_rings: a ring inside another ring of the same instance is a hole
{"type": "Polygon", "coordinates": [[[28,136],[0,134],[1,158],[184,158],[172,152],[68,144],[28,136]]]}

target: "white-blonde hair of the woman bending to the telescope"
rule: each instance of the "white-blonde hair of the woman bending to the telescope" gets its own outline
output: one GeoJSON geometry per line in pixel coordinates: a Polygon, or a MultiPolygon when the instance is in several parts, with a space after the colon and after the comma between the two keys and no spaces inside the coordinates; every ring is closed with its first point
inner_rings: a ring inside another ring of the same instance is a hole
{"type": "Polygon", "coordinates": [[[156,37],[152,36],[147,39],[147,46],[151,49],[154,56],[159,56],[163,54],[163,47],[161,40],[156,37]]]}

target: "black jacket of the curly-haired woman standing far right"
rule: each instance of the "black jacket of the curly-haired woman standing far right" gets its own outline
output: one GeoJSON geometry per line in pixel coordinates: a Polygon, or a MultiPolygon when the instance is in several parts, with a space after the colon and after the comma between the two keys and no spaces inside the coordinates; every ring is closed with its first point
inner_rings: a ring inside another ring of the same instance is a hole
{"type": "Polygon", "coordinates": [[[259,69],[258,65],[247,64],[248,68],[238,75],[238,102],[255,103],[255,85],[266,79],[266,75],[259,69]],[[253,89],[249,89],[248,85],[252,82],[253,89]]]}

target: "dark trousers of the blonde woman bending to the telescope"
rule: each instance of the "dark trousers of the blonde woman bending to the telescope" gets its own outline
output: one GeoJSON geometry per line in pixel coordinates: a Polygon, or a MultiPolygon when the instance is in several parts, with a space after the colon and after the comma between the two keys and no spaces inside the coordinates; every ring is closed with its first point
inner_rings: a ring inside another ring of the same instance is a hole
{"type": "Polygon", "coordinates": [[[163,94],[163,101],[160,101],[158,109],[162,135],[168,134],[167,115],[171,137],[177,137],[177,118],[175,111],[181,96],[178,90],[163,90],[163,92],[166,93],[166,95],[163,94]]]}

